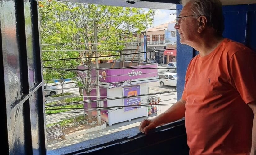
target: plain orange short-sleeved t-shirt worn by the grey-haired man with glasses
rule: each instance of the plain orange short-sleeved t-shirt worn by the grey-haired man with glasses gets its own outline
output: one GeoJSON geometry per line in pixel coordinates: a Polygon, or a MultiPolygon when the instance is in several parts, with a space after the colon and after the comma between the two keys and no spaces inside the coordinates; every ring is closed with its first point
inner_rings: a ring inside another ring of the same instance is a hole
{"type": "Polygon", "coordinates": [[[195,56],[182,99],[190,154],[249,154],[256,101],[256,53],[224,39],[208,55],[195,56]]]}

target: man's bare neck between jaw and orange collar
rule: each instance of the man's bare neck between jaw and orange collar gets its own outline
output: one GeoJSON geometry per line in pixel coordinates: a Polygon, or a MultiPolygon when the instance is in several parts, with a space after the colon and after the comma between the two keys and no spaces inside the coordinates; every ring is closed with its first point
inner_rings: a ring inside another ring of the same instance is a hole
{"type": "Polygon", "coordinates": [[[224,38],[222,36],[205,36],[197,38],[192,47],[199,51],[200,56],[203,57],[210,54],[216,47],[218,47],[223,39],[224,38]]]}

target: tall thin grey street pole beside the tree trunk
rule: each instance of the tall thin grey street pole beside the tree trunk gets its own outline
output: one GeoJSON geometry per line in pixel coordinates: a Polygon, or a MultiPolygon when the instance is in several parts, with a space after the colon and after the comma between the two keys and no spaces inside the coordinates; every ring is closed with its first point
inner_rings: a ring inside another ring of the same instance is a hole
{"type": "MultiPolygon", "coordinates": [[[[96,100],[99,100],[100,99],[100,86],[99,86],[99,62],[98,62],[98,51],[97,51],[97,44],[98,44],[98,24],[95,23],[95,20],[94,20],[94,49],[95,49],[95,64],[96,64],[96,100]]],[[[101,102],[100,101],[97,101],[97,108],[98,107],[101,107],[101,102]]],[[[101,110],[100,108],[97,109],[97,123],[98,125],[101,125],[101,110]]]]}

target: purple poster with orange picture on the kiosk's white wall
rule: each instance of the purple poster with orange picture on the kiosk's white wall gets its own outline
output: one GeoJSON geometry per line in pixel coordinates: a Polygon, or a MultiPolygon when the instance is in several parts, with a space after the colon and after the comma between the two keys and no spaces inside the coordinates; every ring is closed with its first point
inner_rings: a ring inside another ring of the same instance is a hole
{"type": "MultiPolygon", "coordinates": [[[[140,95],[140,86],[135,85],[135,86],[123,87],[123,95],[124,96],[140,95]]],[[[141,97],[124,98],[124,106],[140,105],[140,104],[141,104],[141,97]]],[[[124,108],[124,111],[129,111],[136,108],[140,108],[140,107],[124,108]]]]}

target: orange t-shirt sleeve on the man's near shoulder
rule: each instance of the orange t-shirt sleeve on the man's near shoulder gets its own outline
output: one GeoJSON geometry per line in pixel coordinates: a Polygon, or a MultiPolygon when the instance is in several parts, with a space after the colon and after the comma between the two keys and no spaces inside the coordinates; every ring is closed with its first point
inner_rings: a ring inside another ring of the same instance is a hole
{"type": "Polygon", "coordinates": [[[248,48],[237,51],[229,65],[231,85],[246,104],[256,101],[256,53],[248,48]]]}

